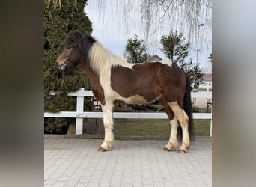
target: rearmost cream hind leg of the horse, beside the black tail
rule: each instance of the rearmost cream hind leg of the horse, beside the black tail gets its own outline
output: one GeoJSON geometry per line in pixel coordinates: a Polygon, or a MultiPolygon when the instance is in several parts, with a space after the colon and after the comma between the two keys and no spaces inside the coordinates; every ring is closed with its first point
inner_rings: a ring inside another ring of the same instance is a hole
{"type": "Polygon", "coordinates": [[[190,148],[189,141],[189,117],[186,115],[185,111],[180,108],[177,102],[168,102],[171,110],[174,112],[175,117],[180,122],[180,126],[182,129],[182,144],[178,153],[186,153],[190,148]]]}

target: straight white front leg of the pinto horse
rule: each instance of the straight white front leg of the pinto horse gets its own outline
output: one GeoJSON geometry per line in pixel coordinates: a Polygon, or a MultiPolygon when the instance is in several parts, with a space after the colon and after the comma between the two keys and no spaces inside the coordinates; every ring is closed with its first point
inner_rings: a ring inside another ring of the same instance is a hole
{"type": "Polygon", "coordinates": [[[103,109],[103,123],[105,128],[105,137],[103,144],[101,144],[99,150],[106,151],[110,150],[114,144],[114,134],[112,132],[114,127],[113,122],[113,102],[106,103],[105,105],[101,105],[103,109]]]}

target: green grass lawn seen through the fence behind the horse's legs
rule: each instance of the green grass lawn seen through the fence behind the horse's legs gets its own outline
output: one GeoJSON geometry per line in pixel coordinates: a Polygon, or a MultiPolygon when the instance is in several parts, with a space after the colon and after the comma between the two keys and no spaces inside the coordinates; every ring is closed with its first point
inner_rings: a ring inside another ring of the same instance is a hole
{"type": "MultiPolygon", "coordinates": [[[[196,112],[210,112],[207,108],[197,108],[196,112]]],[[[115,138],[156,137],[169,138],[169,120],[162,119],[114,119],[115,138]]],[[[104,135],[102,119],[84,120],[84,133],[104,135]]],[[[195,136],[210,136],[210,120],[194,120],[195,136]]]]}

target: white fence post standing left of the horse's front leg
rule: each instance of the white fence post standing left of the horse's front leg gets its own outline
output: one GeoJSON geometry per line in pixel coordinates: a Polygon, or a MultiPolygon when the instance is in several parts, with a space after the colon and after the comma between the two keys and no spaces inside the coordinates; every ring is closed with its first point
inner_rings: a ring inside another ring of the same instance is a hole
{"type": "MultiPolygon", "coordinates": [[[[80,88],[79,91],[84,91],[80,88]]],[[[82,135],[83,118],[79,117],[84,112],[84,96],[76,96],[76,135],[82,135]]]]}

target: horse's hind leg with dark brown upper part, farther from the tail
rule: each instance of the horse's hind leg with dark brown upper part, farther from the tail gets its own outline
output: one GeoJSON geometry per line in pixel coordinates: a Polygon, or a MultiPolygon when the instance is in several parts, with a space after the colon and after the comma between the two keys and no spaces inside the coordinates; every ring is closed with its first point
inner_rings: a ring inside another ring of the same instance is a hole
{"type": "Polygon", "coordinates": [[[170,138],[169,138],[168,144],[165,145],[163,150],[167,150],[167,151],[176,150],[178,146],[177,127],[179,126],[179,123],[177,121],[177,118],[174,116],[174,112],[171,111],[171,108],[169,107],[165,99],[162,99],[162,105],[165,108],[165,112],[168,115],[168,118],[170,120],[170,125],[171,125],[170,138]]]}

